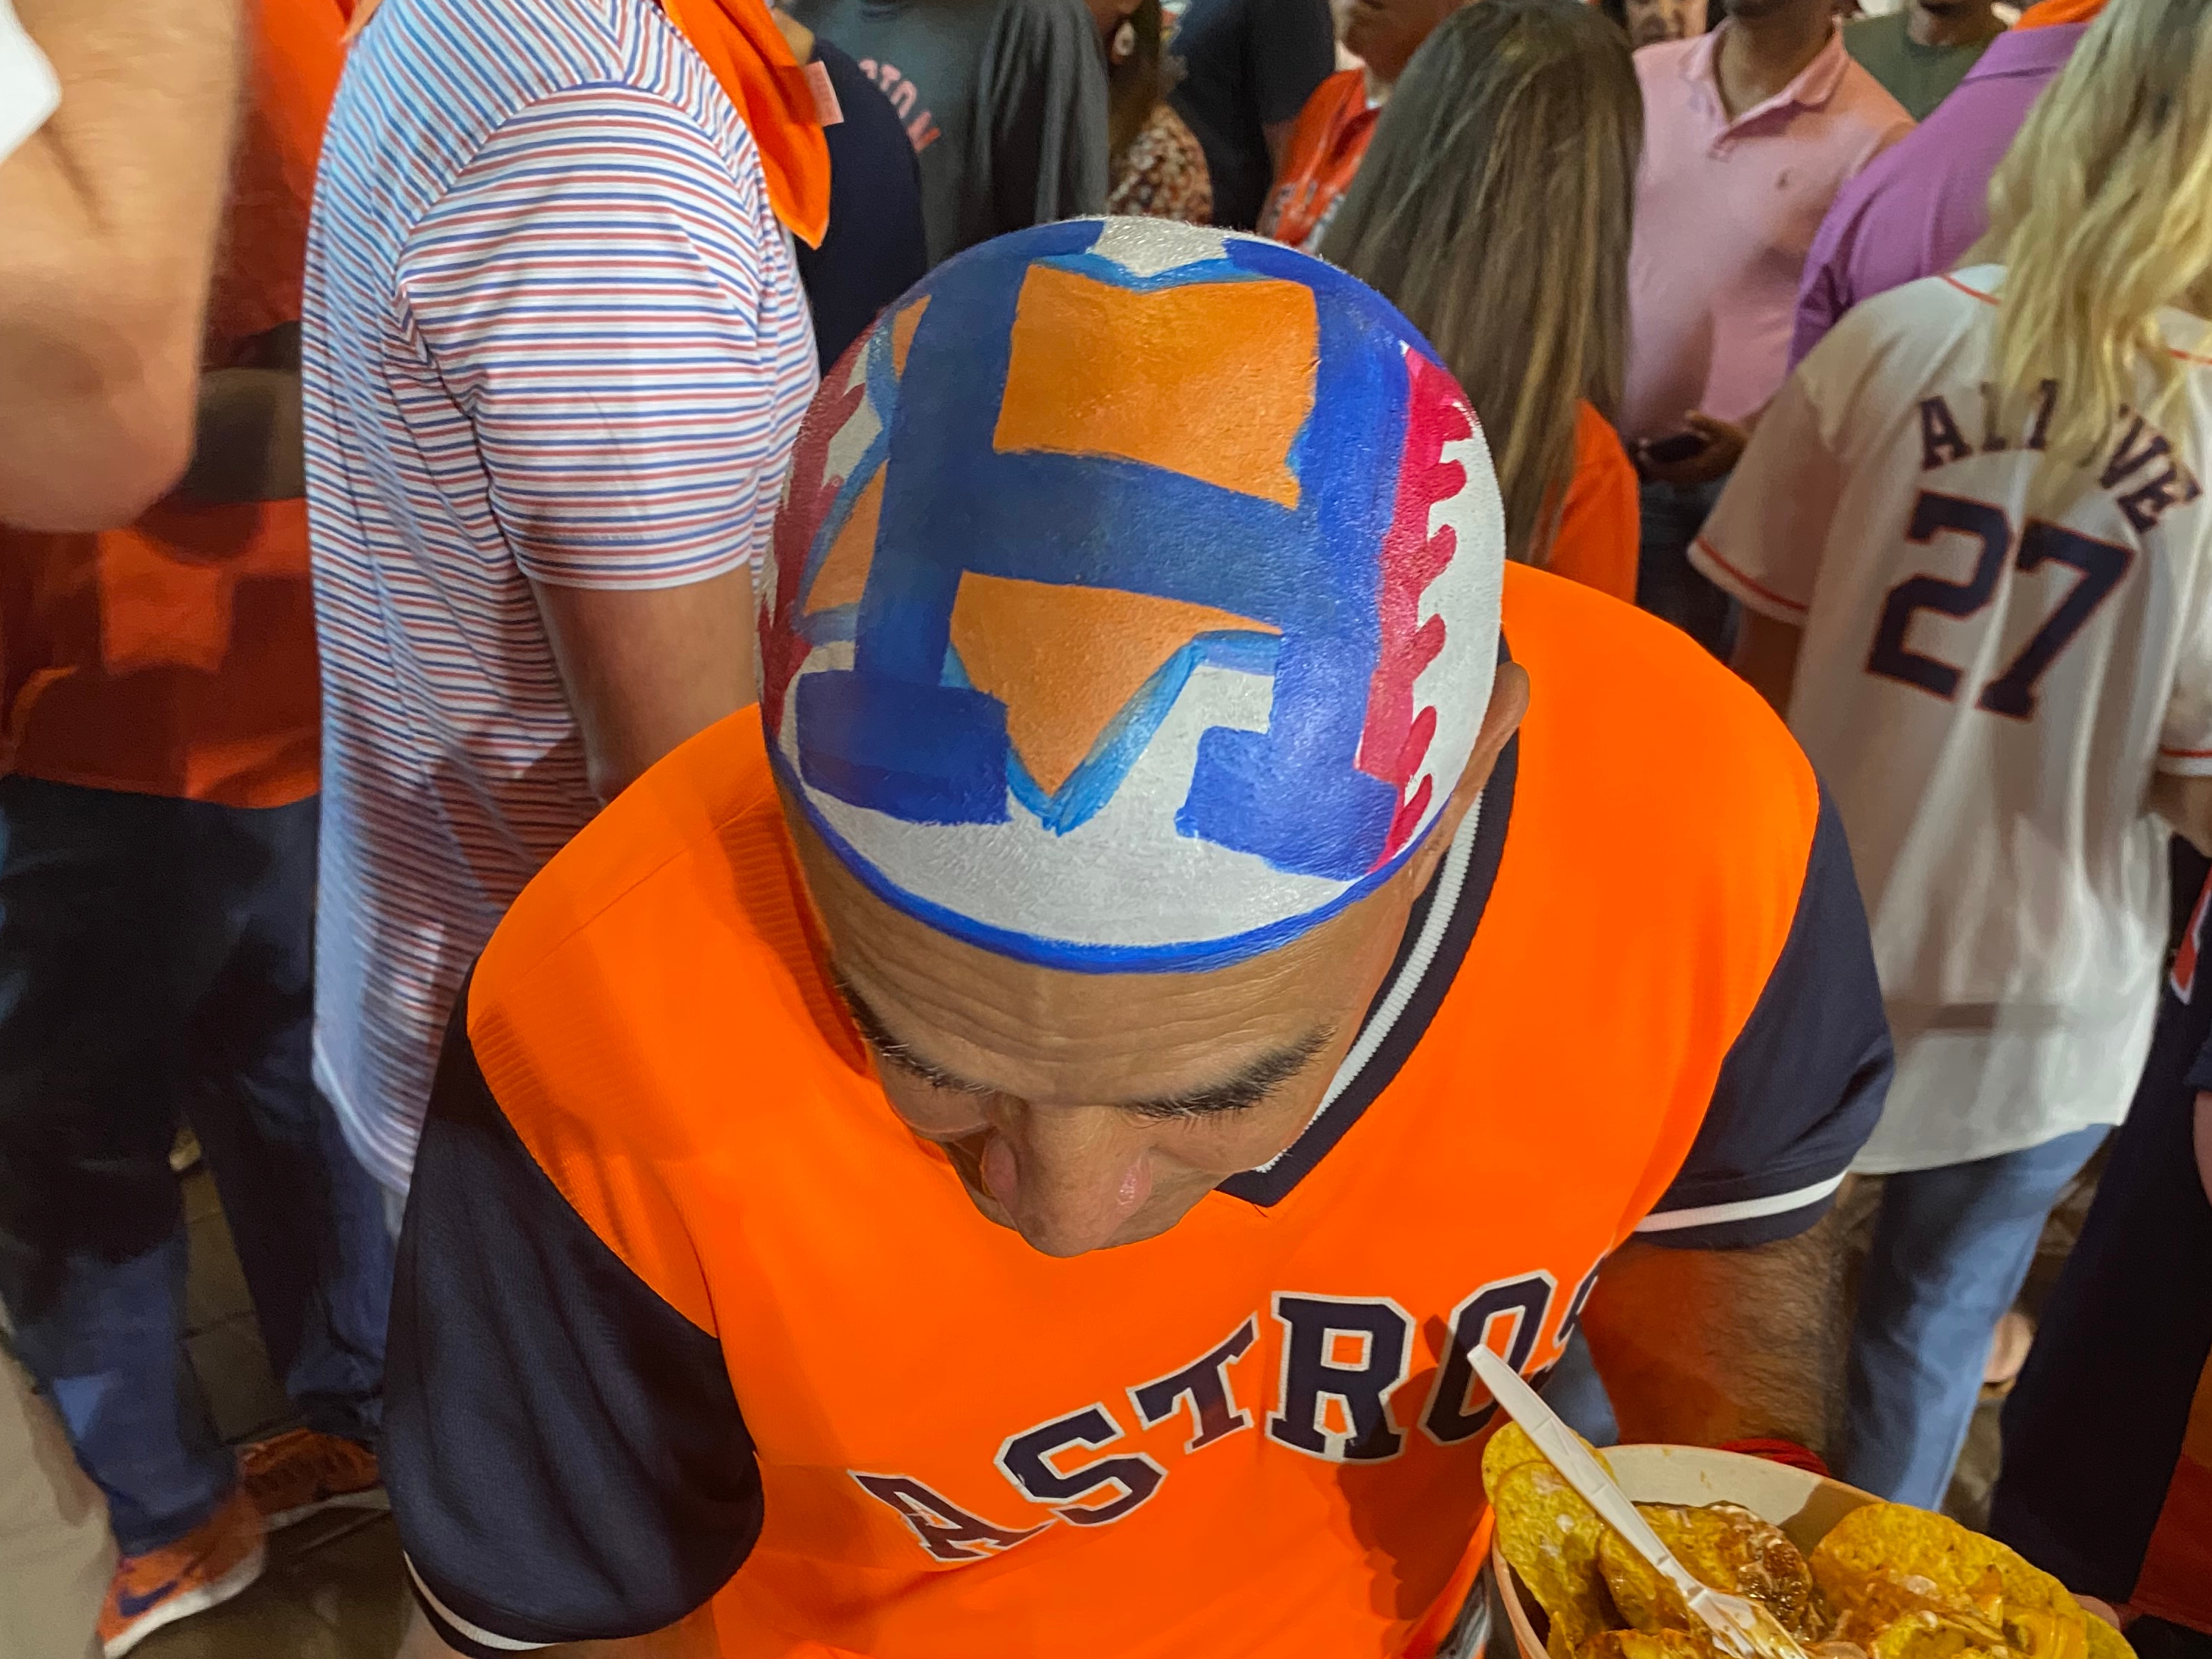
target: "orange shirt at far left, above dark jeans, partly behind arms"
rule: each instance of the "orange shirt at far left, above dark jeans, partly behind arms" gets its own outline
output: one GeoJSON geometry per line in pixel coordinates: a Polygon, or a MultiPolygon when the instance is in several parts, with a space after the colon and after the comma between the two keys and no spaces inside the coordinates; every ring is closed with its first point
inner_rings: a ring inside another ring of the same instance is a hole
{"type": "MultiPolygon", "coordinates": [[[[343,64],[334,0],[261,0],[208,367],[299,319],[307,204],[343,64]]],[[[319,785],[307,504],[170,498],[100,535],[0,529],[0,763],[272,807],[319,785]]]]}

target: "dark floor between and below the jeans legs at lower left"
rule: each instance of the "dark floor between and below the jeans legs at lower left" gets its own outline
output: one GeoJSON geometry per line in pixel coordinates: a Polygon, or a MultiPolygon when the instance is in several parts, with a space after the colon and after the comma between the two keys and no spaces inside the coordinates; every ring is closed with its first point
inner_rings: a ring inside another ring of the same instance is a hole
{"type": "MultiPolygon", "coordinates": [[[[186,1347],[226,1440],[292,1427],[270,1376],[230,1228],[206,1170],[186,1179],[192,1272],[186,1347]]],[[[270,1540],[270,1566],[246,1595],[148,1637],[133,1659],[392,1659],[409,1608],[389,1515],[327,1511],[270,1540]]]]}

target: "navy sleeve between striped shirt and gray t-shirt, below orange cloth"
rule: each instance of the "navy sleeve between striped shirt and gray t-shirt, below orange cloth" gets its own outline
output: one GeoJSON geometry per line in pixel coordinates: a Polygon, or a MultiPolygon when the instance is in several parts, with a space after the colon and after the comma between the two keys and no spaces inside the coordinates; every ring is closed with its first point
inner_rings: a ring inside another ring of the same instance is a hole
{"type": "Polygon", "coordinates": [[[816,38],[814,62],[830,73],[845,119],[830,139],[830,230],[821,248],[799,243],[799,281],[814,312],[823,374],[894,299],[922,281],[922,170],[898,111],[860,64],[816,38]]]}

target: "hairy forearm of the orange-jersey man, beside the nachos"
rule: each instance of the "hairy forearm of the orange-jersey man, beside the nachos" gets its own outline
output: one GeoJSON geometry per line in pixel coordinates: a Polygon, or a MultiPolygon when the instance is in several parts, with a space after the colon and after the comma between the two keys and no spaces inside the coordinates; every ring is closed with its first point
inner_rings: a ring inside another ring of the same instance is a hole
{"type": "Polygon", "coordinates": [[[1843,1376],[1843,1243],[1829,1212],[1752,1250],[1628,1243],[1590,1292],[1590,1354],[1621,1440],[1832,1447],[1843,1376]]]}

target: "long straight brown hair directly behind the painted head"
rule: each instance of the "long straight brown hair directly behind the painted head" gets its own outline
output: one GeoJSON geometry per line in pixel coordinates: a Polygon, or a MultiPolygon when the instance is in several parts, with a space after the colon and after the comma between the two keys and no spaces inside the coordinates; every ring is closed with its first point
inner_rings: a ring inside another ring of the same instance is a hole
{"type": "Polygon", "coordinates": [[[1506,555],[1551,557],[1577,403],[1608,420],[1628,358],[1628,221],[1644,95],[1628,42],[1577,0],[1480,0],[1391,91],[1321,241],[1467,387],[1498,467],[1506,555]]]}

